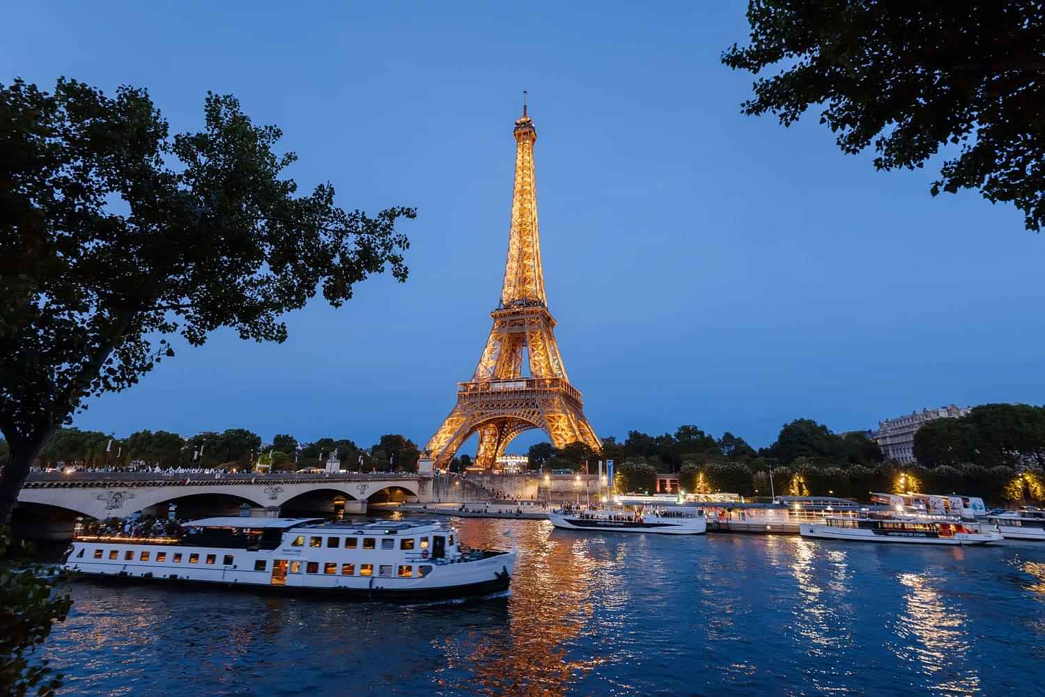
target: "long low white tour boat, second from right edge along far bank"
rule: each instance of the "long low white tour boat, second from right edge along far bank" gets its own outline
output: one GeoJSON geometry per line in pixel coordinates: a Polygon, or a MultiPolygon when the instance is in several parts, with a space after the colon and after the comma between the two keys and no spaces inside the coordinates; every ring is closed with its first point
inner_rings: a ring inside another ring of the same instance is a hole
{"type": "Polygon", "coordinates": [[[915,544],[986,544],[1002,536],[959,522],[932,518],[828,517],[798,525],[803,537],[915,544]]]}

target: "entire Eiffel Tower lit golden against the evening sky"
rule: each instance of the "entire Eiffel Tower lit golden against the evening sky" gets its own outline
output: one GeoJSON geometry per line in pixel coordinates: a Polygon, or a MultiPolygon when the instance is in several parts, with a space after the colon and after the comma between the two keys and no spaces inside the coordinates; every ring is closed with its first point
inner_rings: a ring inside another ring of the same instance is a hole
{"type": "Polygon", "coordinates": [[[548,311],[537,231],[537,189],[533,144],[537,132],[522,106],[515,121],[515,188],[508,236],[508,261],[493,328],[468,382],[458,382],[457,405],[425,447],[436,467],[446,467],[461,444],[479,433],[478,467],[493,466],[524,431],[541,428],[562,448],[580,441],[601,448],[584,416],[584,400],[570,384],[548,311]],[[522,353],[530,376],[522,375],[522,353]]]}

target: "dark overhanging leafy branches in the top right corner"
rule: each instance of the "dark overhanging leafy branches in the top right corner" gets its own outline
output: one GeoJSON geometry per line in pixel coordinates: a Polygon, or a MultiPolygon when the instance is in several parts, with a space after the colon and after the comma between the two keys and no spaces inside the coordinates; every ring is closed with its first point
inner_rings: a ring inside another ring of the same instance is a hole
{"type": "Polygon", "coordinates": [[[722,54],[759,77],[748,115],[785,126],[810,107],[843,153],[874,145],[877,169],[922,167],[942,147],[931,193],[978,189],[1045,220],[1045,5],[1037,0],[750,0],[750,45],[722,54]]]}

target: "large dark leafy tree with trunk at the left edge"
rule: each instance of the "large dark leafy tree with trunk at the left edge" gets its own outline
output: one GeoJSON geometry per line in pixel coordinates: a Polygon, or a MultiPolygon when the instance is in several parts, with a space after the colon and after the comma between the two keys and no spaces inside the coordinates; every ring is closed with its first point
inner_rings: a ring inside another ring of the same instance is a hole
{"type": "Polygon", "coordinates": [[[413,209],[296,195],[279,129],[231,95],[208,93],[204,116],[171,139],[144,90],[0,85],[0,520],[54,429],[172,356],[168,336],[282,342],[280,317],[318,288],[338,307],[386,265],[405,280],[395,223],[413,209]]]}

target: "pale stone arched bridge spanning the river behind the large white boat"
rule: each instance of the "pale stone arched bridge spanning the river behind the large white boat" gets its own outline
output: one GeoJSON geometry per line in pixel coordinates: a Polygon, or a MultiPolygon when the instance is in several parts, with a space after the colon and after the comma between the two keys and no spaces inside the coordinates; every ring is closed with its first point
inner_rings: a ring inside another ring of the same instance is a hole
{"type": "Polygon", "coordinates": [[[162,504],[201,494],[217,494],[253,507],[283,507],[304,494],[344,497],[347,513],[365,513],[367,504],[395,493],[400,498],[432,501],[432,477],[418,474],[214,475],[159,473],[34,473],[22,487],[19,503],[55,506],[94,518],[122,517],[162,504]]]}

